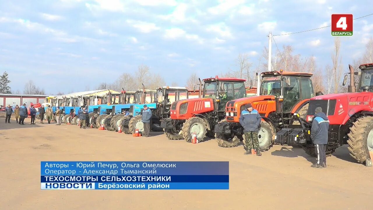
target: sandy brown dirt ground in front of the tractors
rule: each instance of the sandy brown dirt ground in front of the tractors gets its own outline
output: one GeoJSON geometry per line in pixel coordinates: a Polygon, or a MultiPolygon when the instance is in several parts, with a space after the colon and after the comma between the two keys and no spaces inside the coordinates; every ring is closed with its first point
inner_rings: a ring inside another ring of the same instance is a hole
{"type": "MultiPolygon", "coordinates": [[[[55,124],[0,122],[0,209],[371,209],[373,167],[338,148],[326,169],[301,148],[261,157],[220,148],[55,124]],[[229,161],[229,190],[41,190],[40,161],[229,161]]],[[[38,120],[37,120],[38,122],[38,120]]]]}

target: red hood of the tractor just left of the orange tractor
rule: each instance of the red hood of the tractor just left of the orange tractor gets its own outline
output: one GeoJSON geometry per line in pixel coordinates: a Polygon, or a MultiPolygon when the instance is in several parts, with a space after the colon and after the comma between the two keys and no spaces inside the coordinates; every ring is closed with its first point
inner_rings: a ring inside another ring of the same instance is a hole
{"type": "Polygon", "coordinates": [[[175,101],[171,105],[171,119],[186,120],[197,114],[203,114],[214,110],[212,98],[190,98],[175,101]]]}

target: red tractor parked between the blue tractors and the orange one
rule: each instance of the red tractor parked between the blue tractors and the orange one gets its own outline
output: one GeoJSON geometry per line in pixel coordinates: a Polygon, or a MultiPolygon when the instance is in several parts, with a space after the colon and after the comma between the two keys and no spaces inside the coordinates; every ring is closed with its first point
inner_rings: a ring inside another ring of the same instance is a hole
{"type": "MultiPolygon", "coordinates": [[[[195,134],[199,141],[206,135],[213,137],[214,126],[225,118],[228,101],[246,97],[244,79],[207,78],[204,79],[202,98],[175,101],[171,105],[170,118],[161,122],[161,127],[169,139],[191,142],[195,134]]],[[[200,96],[201,96],[200,82],[200,96]]]]}

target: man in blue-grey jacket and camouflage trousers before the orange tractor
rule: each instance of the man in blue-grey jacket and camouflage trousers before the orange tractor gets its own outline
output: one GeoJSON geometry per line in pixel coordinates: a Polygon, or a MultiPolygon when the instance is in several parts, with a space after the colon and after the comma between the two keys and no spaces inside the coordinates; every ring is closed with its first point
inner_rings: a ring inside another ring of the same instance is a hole
{"type": "Polygon", "coordinates": [[[258,130],[260,126],[261,116],[256,109],[253,109],[251,104],[246,105],[246,109],[241,112],[239,117],[239,123],[244,128],[245,135],[245,155],[251,154],[251,149],[255,149],[258,156],[261,155],[259,141],[258,141],[258,130]]]}

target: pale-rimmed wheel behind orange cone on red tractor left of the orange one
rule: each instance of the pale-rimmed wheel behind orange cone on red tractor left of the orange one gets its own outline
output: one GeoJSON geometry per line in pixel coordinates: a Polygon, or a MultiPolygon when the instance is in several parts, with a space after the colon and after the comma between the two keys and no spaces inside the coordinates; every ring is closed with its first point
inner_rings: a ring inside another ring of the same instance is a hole
{"type": "Polygon", "coordinates": [[[200,117],[191,117],[185,121],[181,128],[183,138],[186,142],[192,142],[192,135],[195,133],[199,142],[203,141],[207,133],[206,122],[200,117]]]}

